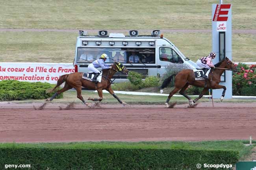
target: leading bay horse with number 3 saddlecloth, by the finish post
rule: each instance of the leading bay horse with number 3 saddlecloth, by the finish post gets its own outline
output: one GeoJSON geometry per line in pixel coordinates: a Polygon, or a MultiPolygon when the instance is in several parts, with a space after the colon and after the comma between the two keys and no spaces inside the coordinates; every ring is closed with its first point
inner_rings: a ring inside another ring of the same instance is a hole
{"type": "Polygon", "coordinates": [[[229,60],[227,57],[224,58],[222,61],[218,62],[214,65],[215,68],[211,68],[209,73],[209,79],[208,80],[195,80],[195,75],[193,72],[193,69],[183,69],[177,74],[171,75],[169,78],[165,79],[163,81],[163,84],[161,85],[161,89],[167,87],[167,85],[171,82],[174,75],[175,76],[175,83],[174,83],[174,89],[170,92],[165,105],[167,108],[173,108],[175,104],[169,105],[169,101],[171,97],[180,90],[180,94],[186,97],[189,100],[189,106],[193,107],[195,106],[195,102],[197,102],[199,99],[202,98],[204,93],[208,91],[210,88],[212,89],[223,89],[222,95],[220,100],[223,100],[223,97],[225,96],[226,87],[219,85],[219,82],[221,81],[221,75],[223,74],[224,70],[231,70],[237,72],[237,68],[234,65],[234,63],[229,60]],[[204,89],[200,93],[199,97],[197,97],[195,100],[191,100],[191,97],[186,95],[185,90],[189,85],[197,86],[197,87],[203,87],[204,89]]]}

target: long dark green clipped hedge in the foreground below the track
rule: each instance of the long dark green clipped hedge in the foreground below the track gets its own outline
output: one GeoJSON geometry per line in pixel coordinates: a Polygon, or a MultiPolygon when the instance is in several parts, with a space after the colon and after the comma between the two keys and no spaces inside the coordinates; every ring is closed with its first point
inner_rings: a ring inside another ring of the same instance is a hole
{"type": "Polygon", "coordinates": [[[2,168],[30,164],[32,170],[197,170],[198,163],[234,165],[239,158],[231,150],[11,146],[1,147],[0,155],[2,168]]]}

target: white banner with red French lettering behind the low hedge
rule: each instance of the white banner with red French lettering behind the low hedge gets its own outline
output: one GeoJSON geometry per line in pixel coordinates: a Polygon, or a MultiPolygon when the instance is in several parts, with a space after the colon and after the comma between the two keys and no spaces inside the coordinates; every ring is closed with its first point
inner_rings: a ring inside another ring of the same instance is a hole
{"type": "Polygon", "coordinates": [[[56,84],[61,75],[75,71],[72,63],[0,63],[0,81],[19,80],[56,84]]]}

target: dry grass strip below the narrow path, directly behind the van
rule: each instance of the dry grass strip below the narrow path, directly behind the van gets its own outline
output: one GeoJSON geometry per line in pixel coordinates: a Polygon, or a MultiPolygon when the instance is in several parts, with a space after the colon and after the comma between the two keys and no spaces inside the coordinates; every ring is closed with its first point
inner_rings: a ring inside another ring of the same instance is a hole
{"type": "MultiPolygon", "coordinates": [[[[0,61],[72,63],[77,35],[73,32],[1,32],[0,61]]],[[[211,51],[211,33],[165,33],[164,37],[194,62],[211,51]]],[[[233,61],[255,62],[255,39],[256,35],[233,34],[233,61]]]]}

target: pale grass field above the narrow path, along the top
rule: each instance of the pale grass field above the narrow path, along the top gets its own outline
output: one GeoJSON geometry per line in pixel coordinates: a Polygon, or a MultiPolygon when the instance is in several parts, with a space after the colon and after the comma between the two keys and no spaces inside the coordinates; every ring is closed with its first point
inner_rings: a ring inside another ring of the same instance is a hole
{"type": "MultiPolygon", "coordinates": [[[[0,5],[0,28],[211,29],[211,4],[218,3],[218,0],[8,0],[0,5]]],[[[223,3],[232,4],[233,29],[255,29],[253,1],[223,3]]]]}

